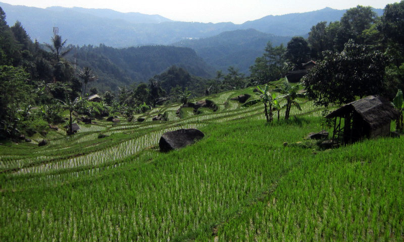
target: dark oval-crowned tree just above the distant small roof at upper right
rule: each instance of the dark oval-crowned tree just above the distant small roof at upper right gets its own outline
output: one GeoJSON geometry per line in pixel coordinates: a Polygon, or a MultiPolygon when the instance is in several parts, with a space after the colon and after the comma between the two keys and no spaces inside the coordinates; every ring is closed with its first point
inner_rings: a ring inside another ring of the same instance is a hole
{"type": "Polygon", "coordinates": [[[303,37],[293,37],[288,43],[285,52],[286,59],[296,69],[310,60],[309,44],[303,37]]]}

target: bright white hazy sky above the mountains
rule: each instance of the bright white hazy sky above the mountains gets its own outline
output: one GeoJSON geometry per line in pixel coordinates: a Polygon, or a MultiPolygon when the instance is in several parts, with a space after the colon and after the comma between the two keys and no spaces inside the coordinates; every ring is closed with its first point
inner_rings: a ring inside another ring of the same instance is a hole
{"type": "Polygon", "coordinates": [[[236,24],[267,15],[302,13],[330,7],[348,9],[357,5],[383,9],[389,0],[0,0],[12,5],[38,8],[51,6],[113,9],[119,12],[159,14],[187,22],[233,22],[236,24]]]}

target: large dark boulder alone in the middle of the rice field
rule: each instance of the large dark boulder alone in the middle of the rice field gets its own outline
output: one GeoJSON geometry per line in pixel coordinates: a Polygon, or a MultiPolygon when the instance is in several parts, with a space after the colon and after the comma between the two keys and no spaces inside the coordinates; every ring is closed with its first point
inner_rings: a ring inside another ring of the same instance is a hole
{"type": "Polygon", "coordinates": [[[163,134],[160,138],[160,150],[167,152],[179,149],[195,143],[196,140],[204,138],[204,133],[197,129],[180,129],[163,134]]]}

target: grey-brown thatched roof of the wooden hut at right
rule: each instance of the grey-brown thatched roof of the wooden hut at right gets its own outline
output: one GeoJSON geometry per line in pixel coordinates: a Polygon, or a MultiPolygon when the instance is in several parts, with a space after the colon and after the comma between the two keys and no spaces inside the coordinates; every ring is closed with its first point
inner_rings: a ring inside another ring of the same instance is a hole
{"type": "Polygon", "coordinates": [[[399,115],[394,106],[386,99],[379,96],[368,96],[348,103],[331,112],[326,117],[340,117],[352,110],[360,114],[366,123],[370,125],[371,129],[377,129],[391,122],[391,119],[396,119],[399,115]]]}

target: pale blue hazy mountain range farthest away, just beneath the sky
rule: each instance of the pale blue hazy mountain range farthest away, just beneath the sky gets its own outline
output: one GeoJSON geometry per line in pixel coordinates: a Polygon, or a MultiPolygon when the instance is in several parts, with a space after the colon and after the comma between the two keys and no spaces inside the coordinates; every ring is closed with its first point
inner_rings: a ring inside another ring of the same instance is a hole
{"type": "MultiPolygon", "coordinates": [[[[177,22],[160,15],[120,13],[108,9],[50,7],[46,9],[0,3],[9,25],[18,20],[32,39],[49,42],[53,27],[59,27],[70,44],[104,43],[113,47],[171,44],[185,39],[207,38],[225,31],[256,29],[276,36],[307,35],[320,21],[337,21],[345,10],[266,16],[243,24],[177,22]]],[[[379,15],[381,9],[375,10],[379,15]]]]}

